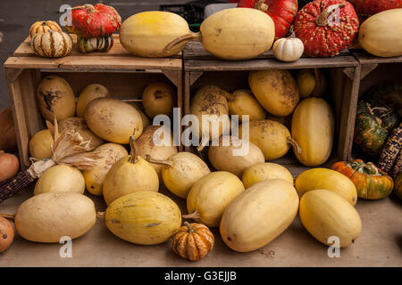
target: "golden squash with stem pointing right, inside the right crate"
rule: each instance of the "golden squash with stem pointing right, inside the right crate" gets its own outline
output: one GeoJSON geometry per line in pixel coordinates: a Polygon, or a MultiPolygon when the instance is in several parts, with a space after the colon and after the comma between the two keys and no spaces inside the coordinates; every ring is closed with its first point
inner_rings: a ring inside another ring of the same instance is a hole
{"type": "MultiPolygon", "coordinates": [[[[239,136],[246,139],[243,132],[247,132],[246,126],[239,126],[239,136]]],[[[258,119],[248,123],[249,142],[253,142],[264,153],[265,160],[279,159],[284,156],[294,143],[289,129],[281,123],[258,119]]]]}

